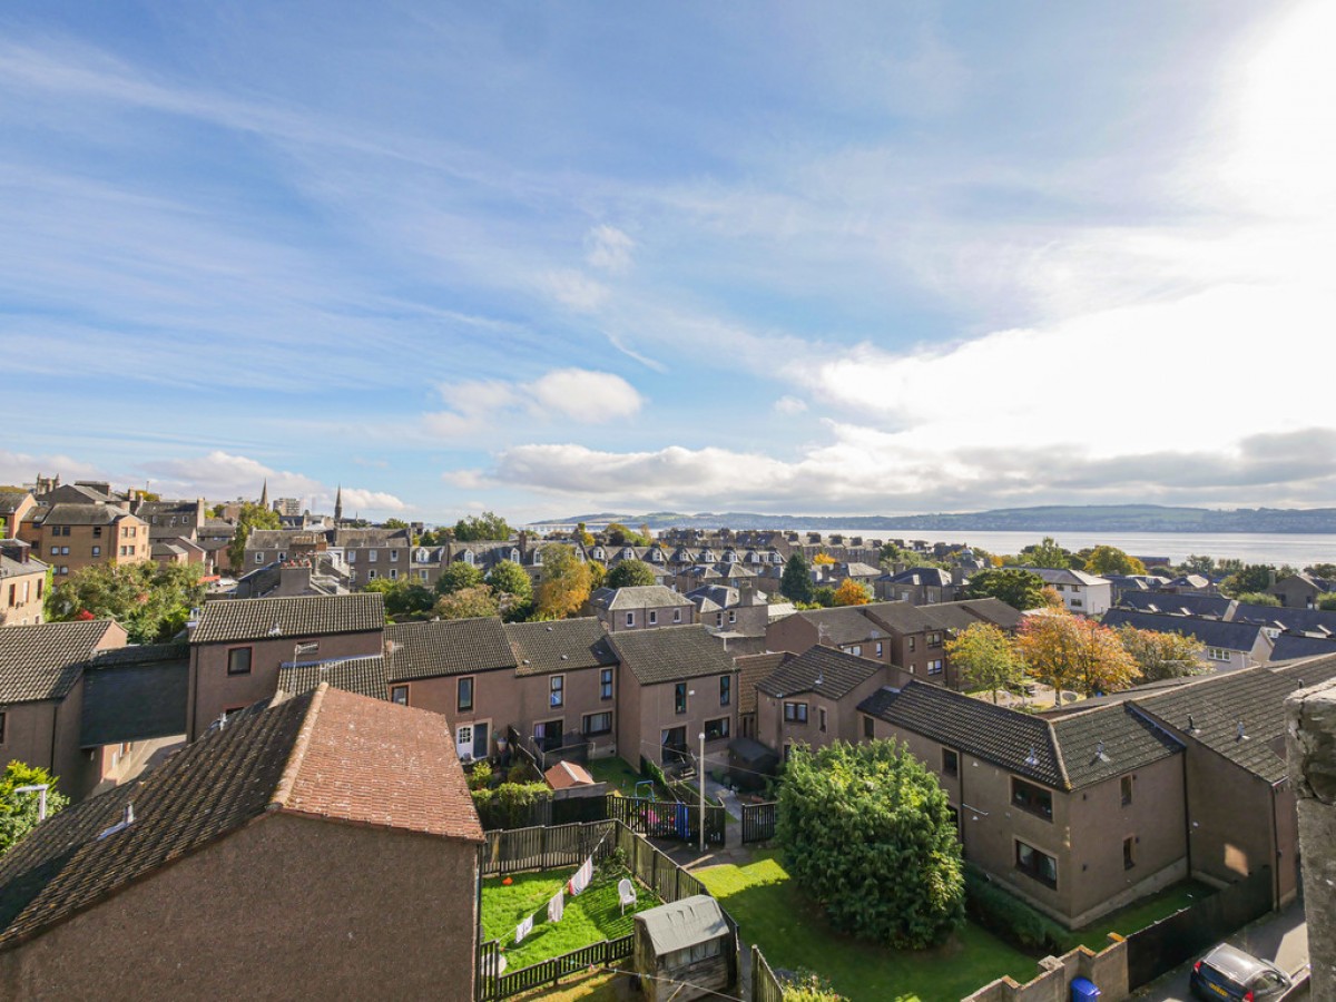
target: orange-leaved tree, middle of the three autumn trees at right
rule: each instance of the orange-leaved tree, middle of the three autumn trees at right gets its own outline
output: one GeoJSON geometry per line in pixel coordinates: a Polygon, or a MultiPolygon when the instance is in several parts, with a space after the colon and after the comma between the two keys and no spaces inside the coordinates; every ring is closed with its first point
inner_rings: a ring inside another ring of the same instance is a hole
{"type": "Polygon", "coordinates": [[[1029,672],[1053,687],[1054,705],[1062,689],[1096,696],[1130,688],[1141,677],[1117,631],[1061,608],[1026,617],[1017,649],[1029,672]]]}

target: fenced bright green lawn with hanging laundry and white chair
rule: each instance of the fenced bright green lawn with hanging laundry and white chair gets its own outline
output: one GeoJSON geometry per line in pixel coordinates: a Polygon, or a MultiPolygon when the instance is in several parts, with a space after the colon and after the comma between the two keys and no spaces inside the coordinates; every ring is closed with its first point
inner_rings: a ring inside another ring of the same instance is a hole
{"type": "Polygon", "coordinates": [[[509,887],[501,883],[502,878],[482,882],[482,934],[488,939],[501,941],[508,970],[528,967],[530,963],[561,957],[581,946],[628,935],[632,926],[631,916],[659,904],[649,891],[636,884],[636,904],[628,907],[623,915],[617,902],[617,880],[627,876],[627,871],[604,864],[595,872],[593,882],[584,894],[578,898],[566,896],[561,922],[549,923],[546,911],[541,911],[534,918],[533,931],[516,946],[514,927],[526,915],[544,908],[572,872],[573,867],[538,874],[516,874],[509,887]]]}

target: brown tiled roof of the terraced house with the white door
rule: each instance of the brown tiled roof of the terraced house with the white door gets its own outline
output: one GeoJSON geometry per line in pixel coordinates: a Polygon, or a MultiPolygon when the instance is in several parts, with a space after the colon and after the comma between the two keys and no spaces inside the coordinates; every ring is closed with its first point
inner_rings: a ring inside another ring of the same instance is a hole
{"type": "Polygon", "coordinates": [[[430,623],[394,623],[385,628],[390,681],[514,669],[510,639],[496,616],[430,623]]]}

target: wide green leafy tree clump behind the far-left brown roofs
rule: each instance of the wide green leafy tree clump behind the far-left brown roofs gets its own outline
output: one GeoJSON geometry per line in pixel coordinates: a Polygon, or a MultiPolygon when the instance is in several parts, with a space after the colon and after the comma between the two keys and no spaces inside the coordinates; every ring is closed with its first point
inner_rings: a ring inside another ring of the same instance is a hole
{"type": "Polygon", "coordinates": [[[198,564],[95,564],[47,593],[51,623],[114,619],[132,644],[171,640],[204,603],[198,564]]]}

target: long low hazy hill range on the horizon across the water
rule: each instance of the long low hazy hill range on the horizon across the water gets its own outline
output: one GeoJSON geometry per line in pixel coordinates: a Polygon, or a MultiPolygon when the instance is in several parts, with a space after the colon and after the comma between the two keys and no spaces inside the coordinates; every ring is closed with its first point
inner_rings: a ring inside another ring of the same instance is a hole
{"type": "Polygon", "coordinates": [[[649,514],[577,514],[533,522],[532,528],[609,521],[651,529],[860,529],[864,532],[958,529],[974,532],[1249,532],[1336,533],[1336,508],[1170,508],[1165,505],[1046,505],[910,516],[758,514],[756,512],[653,512],[649,514]]]}

